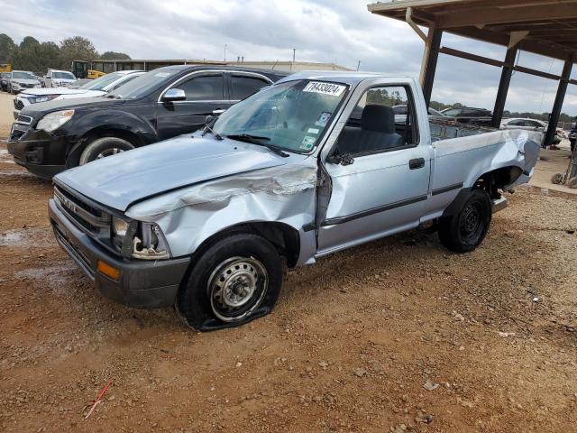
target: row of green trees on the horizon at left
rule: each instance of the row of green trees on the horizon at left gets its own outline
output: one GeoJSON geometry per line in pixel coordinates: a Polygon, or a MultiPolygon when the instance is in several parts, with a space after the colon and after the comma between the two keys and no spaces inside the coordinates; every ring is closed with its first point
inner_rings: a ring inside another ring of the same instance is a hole
{"type": "Polygon", "coordinates": [[[43,75],[48,69],[70,70],[72,60],[130,60],[124,52],[105,51],[98,54],[93,43],[82,36],[67,38],[60,43],[41,42],[26,36],[16,44],[0,33],[0,63],[11,63],[12,69],[30,70],[43,75]]]}

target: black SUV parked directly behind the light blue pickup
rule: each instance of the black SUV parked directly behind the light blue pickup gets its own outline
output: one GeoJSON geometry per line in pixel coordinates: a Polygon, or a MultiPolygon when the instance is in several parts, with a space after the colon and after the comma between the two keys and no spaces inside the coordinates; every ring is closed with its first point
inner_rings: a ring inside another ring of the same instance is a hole
{"type": "Polygon", "coordinates": [[[56,173],[134,147],[189,134],[286,74],[231,67],[169,66],[134,78],[105,97],[25,107],[8,152],[32,173],[56,173]]]}

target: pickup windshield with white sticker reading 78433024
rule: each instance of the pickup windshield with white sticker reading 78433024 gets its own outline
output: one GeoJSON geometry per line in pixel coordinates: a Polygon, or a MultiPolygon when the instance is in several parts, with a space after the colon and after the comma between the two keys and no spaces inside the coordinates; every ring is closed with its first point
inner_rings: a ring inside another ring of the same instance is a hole
{"type": "Polygon", "coordinates": [[[248,97],[226,110],[213,129],[221,135],[252,135],[290,152],[310,152],[343,100],[346,86],[289,81],[248,97]]]}

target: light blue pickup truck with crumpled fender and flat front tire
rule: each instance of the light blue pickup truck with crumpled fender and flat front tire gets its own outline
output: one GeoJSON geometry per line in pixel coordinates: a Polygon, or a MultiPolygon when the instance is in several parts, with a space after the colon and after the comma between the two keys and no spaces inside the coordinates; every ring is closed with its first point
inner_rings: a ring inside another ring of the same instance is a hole
{"type": "Polygon", "coordinates": [[[270,312],[285,265],[421,225],[472,251],[502,192],[533,175],[541,141],[429,124],[410,78],[303,72],[202,132],[60,173],[50,222],[105,296],[231,327],[270,312]],[[408,115],[395,122],[398,105],[408,115]]]}

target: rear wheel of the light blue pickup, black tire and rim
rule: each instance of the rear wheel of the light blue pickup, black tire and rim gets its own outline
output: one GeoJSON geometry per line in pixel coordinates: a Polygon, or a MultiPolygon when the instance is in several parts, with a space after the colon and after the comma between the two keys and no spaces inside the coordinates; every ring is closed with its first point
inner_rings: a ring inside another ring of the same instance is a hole
{"type": "Polygon", "coordinates": [[[491,217],[491,201],[487,191],[472,189],[459,212],[439,221],[441,244],[455,253],[473,251],[485,239],[491,217]]]}

